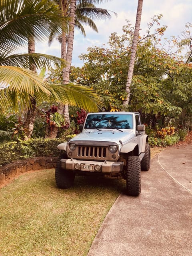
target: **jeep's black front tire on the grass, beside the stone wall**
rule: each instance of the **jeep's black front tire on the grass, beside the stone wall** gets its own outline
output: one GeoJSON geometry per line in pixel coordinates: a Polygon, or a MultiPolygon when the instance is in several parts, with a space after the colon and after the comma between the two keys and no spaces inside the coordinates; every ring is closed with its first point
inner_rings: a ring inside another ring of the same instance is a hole
{"type": "MultiPolygon", "coordinates": [[[[61,158],[67,158],[66,154],[62,154],[61,158]]],[[[75,175],[72,171],[61,168],[60,159],[58,160],[55,168],[55,181],[58,188],[70,188],[74,183],[75,175]]]]}

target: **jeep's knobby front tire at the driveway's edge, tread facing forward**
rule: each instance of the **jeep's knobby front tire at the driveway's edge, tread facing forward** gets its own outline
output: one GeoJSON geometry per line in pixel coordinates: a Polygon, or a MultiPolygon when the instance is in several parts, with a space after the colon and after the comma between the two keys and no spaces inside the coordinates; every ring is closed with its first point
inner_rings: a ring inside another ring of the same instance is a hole
{"type": "Polygon", "coordinates": [[[126,164],[126,194],[138,196],[141,193],[141,164],[138,156],[129,156],[126,164]]]}

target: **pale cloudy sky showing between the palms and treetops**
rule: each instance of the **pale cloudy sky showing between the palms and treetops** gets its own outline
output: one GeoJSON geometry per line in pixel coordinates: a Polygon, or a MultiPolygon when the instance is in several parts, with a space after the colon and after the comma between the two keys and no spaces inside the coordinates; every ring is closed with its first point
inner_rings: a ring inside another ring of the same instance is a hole
{"type": "MultiPolygon", "coordinates": [[[[98,8],[112,11],[110,12],[112,17],[95,21],[98,33],[92,31],[88,26],[84,27],[86,38],[80,32],[75,31],[72,65],[76,67],[83,65],[78,56],[86,53],[88,47],[100,47],[103,44],[107,47],[109,37],[113,32],[118,35],[122,34],[122,26],[126,25],[125,20],[129,20],[132,26],[135,26],[137,4],[138,0],[110,0],[97,5],[98,8]],[[113,12],[116,12],[118,16],[116,17],[113,12]]],[[[178,37],[184,31],[185,24],[192,23],[192,0],[144,0],[140,25],[141,34],[145,34],[151,18],[159,14],[163,15],[160,25],[168,26],[163,38],[178,37]]],[[[51,46],[46,43],[39,44],[36,46],[36,52],[60,57],[60,44],[56,41],[51,46]]]]}

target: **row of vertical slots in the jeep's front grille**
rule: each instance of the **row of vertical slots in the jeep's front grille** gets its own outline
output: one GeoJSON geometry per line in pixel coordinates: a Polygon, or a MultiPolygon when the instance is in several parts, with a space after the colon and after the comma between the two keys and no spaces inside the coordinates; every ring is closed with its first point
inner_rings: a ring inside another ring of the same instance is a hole
{"type": "Polygon", "coordinates": [[[106,147],[78,147],[78,156],[87,158],[106,158],[106,147]]]}

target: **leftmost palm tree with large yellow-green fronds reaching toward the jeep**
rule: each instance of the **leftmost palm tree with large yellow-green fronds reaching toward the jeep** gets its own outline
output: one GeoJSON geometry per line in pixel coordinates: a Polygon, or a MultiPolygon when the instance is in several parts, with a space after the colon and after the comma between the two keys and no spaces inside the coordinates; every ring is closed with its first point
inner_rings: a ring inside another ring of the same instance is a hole
{"type": "MultiPolygon", "coordinates": [[[[34,43],[48,38],[51,31],[54,30],[56,35],[61,31],[66,32],[68,18],[62,15],[60,6],[47,0],[2,0],[0,21],[0,88],[2,88],[0,109],[2,111],[11,105],[17,108],[19,102],[20,107],[28,108],[30,115],[35,112],[36,100],[54,100],[74,105],[77,95],[80,95],[79,106],[97,109],[93,100],[97,102],[98,98],[90,95],[91,92],[86,88],[81,88],[79,94],[77,86],[69,85],[64,88],[59,85],[49,85],[36,74],[37,68],[51,68],[52,63],[57,66],[65,63],[64,60],[54,56],[34,53],[34,43]],[[13,50],[19,50],[26,44],[28,44],[28,54],[10,55],[13,50]]],[[[27,119],[30,119],[30,116],[27,119]]]]}

